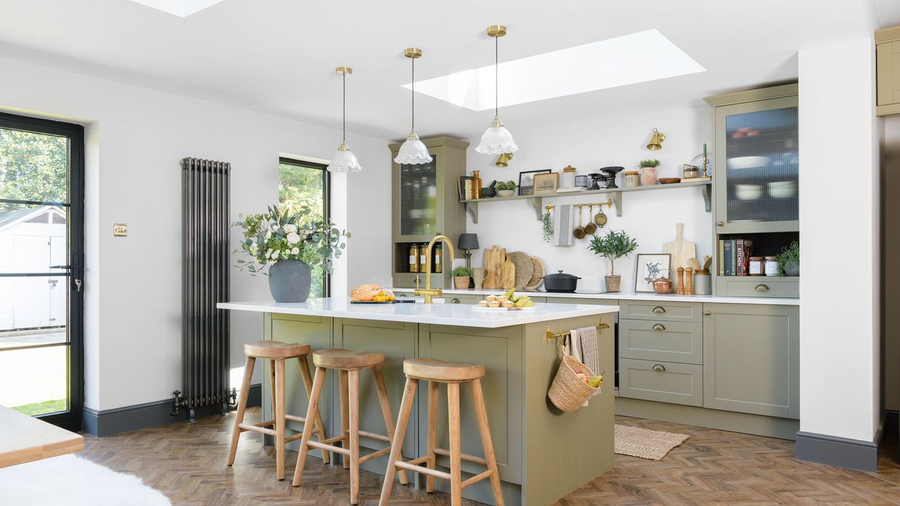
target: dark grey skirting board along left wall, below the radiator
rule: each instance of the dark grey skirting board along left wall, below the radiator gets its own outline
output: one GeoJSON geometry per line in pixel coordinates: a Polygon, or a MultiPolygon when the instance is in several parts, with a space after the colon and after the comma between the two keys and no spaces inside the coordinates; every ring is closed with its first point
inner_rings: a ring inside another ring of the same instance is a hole
{"type": "MultiPolygon", "coordinates": [[[[262,385],[250,385],[250,396],[247,406],[259,406],[262,402],[262,385]]],[[[184,410],[172,416],[172,399],[146,402],[112,410],[97,411],[85,408],[82,414],[82,430],[92,436],[110,436],[128,430],[158,427],[175,421],[184,421],[184,410]]],[[[215,406],[205,406],[196,410],[196,417],[217,414],[215,406]]]]}

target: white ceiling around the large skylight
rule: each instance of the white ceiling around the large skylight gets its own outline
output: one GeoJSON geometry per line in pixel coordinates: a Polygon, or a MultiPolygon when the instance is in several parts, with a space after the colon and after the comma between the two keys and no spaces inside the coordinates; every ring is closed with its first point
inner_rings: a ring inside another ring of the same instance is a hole
{"type": "MultiPolygon", "coordinates": [[[[882,21],[900,4],[875,1],[882,21]]],[[[180,18],[130,0],[0,0],[0,56],[328,126],[340,124],[334,68],[350,66],[348,130],[401,140],[410,128],[406,47],[424,51],[416,77],[427,79],[490,65],[489,24],[509,28],[501,61],[656,29],[707,68],[500,111],[513,132],[566,128],[796,79],[797,50],[869,33],[871,2],[223,0],[180,18]]],[[[479,137],[492,117],[417,96],[422,137],[479,137]]]]}

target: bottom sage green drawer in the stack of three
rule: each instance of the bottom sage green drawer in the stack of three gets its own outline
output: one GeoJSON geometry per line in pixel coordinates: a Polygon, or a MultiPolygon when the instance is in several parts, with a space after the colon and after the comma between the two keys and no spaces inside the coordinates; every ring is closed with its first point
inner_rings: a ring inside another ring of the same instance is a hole
{"type": "Polygon", "coordinates": [[[703,366],[620,358],[619,396],[703,406],[703,366]]]}

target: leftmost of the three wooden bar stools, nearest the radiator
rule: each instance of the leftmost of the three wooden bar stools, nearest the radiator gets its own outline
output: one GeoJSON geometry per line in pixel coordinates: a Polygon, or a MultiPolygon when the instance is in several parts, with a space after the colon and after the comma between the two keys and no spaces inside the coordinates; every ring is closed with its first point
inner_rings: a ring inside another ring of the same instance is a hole
{"type": "MultiPolygon", "coordinates": [[[[234,420],[234,430],[231,432],[231,449],[229,450],[228,465],[234,464],[234,457],[238,453],[238,438],[240,433],[246,430],[262,432],[275,437],[275,462],[279,480],[284,480],[284,445],[303,437],[296,434],[289,438],[284,437],[286,420],[300,421],[306,432],[306,420],[299,416],[284,413],[284,360],[296,358],[300,364],[300,375],[303,378],[303,387],[306,389],[307,398],[312,390],[312,376],[310,364],[306,356],[310,354],[310,346],[305,344],[289,344],[281,341],[254,341],[244,345],[244,354],[247,355],[247,365],[244,366],[244,382],[240,387],[240,399],[238,400],[238,417],[234,420]],[[254,424],[244,423],[244,413],[247,411],[247,397],[250,394],[250,379],[253,376],[253,366],[257,358],[266,358],[269,362],[269,377],[272,384],[272,420],[261,421],[254,424]],[[266,429],[275,426],[275,429],[266,429]]],[[[315,429],[310,433],[319,434],[320,439],[325,438],[325,426],[322,418],[316,413],[315,429]]],[[[329,452],[322,450],[322,460],[329,462],[329,452]]]]}

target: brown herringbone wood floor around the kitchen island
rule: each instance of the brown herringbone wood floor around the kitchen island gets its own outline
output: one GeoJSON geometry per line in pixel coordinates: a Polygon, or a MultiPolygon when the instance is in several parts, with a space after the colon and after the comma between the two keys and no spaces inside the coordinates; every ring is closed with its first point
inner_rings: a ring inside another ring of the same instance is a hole
{"type": "MultiPolygon", "coordinates": [[[[248,411],[251,423],[259,409],[248,411]]],[[[234,467],[225,465],[233,415],[194,424],[136,430],[106,438],[85,436],[81,456],[116,471],[137,474],[175,505],[293,504],[344,506],[346,471],[308,461],[304,485],[275,480],[274,450],[245,433],[234,467]]],[[[900,504],[896,443],[883,452],[878,474],[849,471],[793,458],[794,443],[651,420],[618,423],[690,435],[660,462],[617,456],[607,474],[563,498],[558,506],[587,505],[888,505],[900,504]]],[[[295,452],[288,452],[293,471],[295,452]]],[[[290,473],[289,473],[290,474],[290,473]]],[[[381,476],[361,477],[363,504],[374,506],[381,476]]],[[[395,486],[392,504],[449,504],[448,496],[395,486]]],[[[464,502],[472,505],[473,502],[464,502]]],[[[509,505],[515,506],[515,505],[509,505]]]]}

